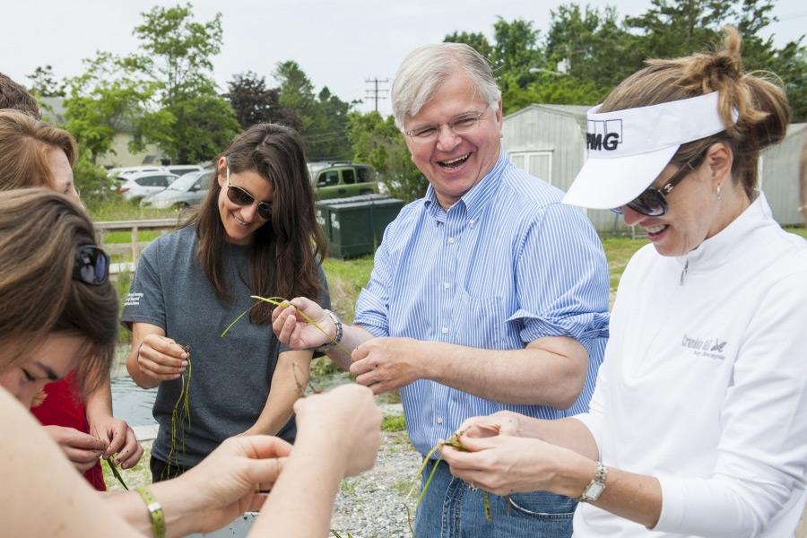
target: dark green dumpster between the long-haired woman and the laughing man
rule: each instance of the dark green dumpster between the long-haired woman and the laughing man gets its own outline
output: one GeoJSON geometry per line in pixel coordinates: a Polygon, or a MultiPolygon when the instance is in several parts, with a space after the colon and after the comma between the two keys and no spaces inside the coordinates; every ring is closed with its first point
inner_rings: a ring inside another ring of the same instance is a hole
{"type": "Polygon", "coordinates": [[[404,206],[385,195],[360,195],[317,202],[317,222],[328,239],[328,255],[344,259],[372,254],[404,206]]]}

